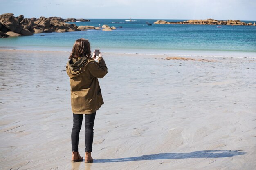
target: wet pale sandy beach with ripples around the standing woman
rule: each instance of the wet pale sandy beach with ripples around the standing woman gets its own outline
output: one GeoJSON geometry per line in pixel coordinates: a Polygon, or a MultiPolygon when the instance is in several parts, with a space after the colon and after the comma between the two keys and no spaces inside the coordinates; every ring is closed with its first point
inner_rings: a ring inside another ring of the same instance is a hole
{"type": "Polygon", "coordinates": [[[70,162],[68,56],[0,50],[1,170],[256,169],[255,58],[103,53],[105,104],[85,164],[70,162]]]}

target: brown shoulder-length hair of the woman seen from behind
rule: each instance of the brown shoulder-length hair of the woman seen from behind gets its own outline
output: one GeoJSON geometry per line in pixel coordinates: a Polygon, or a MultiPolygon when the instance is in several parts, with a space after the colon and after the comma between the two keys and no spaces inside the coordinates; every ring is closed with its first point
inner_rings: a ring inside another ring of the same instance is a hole
{"type": "Polygon", "coordinates": [[[79,57],[87,57],[92,59],[91,55],[91,47],[89,40],[85,40],[84,38],[77,39],[75,44],[73,45],[72,52],[70,53],[69,59],[79,57]]]}

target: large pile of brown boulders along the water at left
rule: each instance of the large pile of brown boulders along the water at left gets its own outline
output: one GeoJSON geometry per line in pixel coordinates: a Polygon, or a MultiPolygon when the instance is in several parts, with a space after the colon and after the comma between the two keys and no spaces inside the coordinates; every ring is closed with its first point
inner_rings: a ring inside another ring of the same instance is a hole
{"type": "Polygon", "coordinates": [[[33,35],[33,33],[80,31],[77,29],[76,24],[66,23],[76,21],[90,20],[75,18],[62,19],[60,17],[24,18],[23,15],[15,17],[13,13],[4,13],[0,15],[0,38],[33,35]]]}

